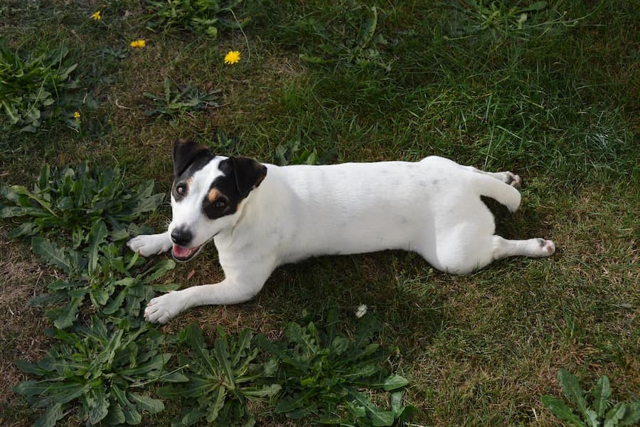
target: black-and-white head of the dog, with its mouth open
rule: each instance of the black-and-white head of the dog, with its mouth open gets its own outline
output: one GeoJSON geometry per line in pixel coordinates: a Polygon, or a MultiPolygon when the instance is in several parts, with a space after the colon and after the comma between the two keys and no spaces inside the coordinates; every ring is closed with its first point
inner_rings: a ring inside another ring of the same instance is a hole
{"type": "Polygon", "coordinates": [[[172,254],[193,258],[213,236],[238,221],[242,201],[267,176],[267,167],[246,157],[222,157],[208,147],[178,139],[174,143],[172,254]]]}

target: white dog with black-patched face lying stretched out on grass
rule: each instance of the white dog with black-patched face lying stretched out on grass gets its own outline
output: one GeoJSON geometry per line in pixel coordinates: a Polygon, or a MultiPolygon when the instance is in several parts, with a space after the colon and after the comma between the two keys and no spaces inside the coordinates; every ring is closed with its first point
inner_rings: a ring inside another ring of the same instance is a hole
{"type": "Polygon", "coordinates": [[[132,238],[140,255],[191,260],[213,240],[225,279],[153,298],[144,311],[164,324],[198,305],[255,297],[278,265],[317,255],[402,249],[438,270],[465,274],[494,260],[555,252],[543,238],[496,235],[487,196],[518,209],[520,176],[482,172],[443,157],[420,162],[278,167],[174,143],[173,218],[164,233],[132,238]]]}

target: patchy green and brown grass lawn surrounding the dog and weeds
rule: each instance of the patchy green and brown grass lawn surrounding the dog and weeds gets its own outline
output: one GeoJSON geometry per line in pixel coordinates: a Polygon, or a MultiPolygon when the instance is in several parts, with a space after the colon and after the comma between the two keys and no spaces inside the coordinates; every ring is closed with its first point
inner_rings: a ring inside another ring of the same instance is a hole
{"type": "MultiPolygon", "coordinates": [[[[499,214],[498,230],[553,238],[552,258],[503,260],[462,277],[409,253],[316,258],[278,268],[252,302],[197,308],[163,329],[197,322],[206,334],[219,324],[277,337],[302,308],[320,315],[333,304],[366,304],[385,325],[381,341],[400,349],[394,368],[410,380],[407,399],[420,408],[415,424],[557,425],[540,395],[560,395],[562,367],[585,383],[607,374],[621,399],[640,394],[640,9],[635,1],[558,1],[528,12],[519,29],[510,7],[533,1],[508,3],[494,2],[507,16],[494,22],[454,0],[247,0],[238,11],[252,19],[247,38],[228,29],[212,41],[149,31],[143,1],[5,2],[0,35],[9,45],[68,46],[76,77],[100,106],[82,111],[79,132],[63,125],[35,135],[1,132],[0,180],[28,184],[34,164],[90,159],[166,191],[177,137],[263,162],[276,162],[277,147],[299,139],[301,150],[316,149],[326,162],[437,154],[517,172],[523,206],[499,214]],[[353,50],[374,4],[376,42],[368,47],[390,70],[358,63],[353,50]],[[102,21],[89,19],[100,8],[102,21]],[[146,48],[130,49],[136,38],[146,48]],[[238,65],[223,65],[229,50],[242,52],[238,65]],[[221,89],[220,107],[171,122],[146,117],[143,93],[163,93],[165,78],[221,89]],[[218,130],[230,138],[224,144],[218,130]]],[[[150,223],[161,227],[169,215],[166,206],[150,223]]],[[[50,345],[48,325],[28,300],[56,273],[6,239],[7,231],[2,226],[0,423],[27,426],[37,414],[11,391],[26,378],[11,361],[38,359],[50,345]]],[[[174,280],[215,283],[222,276],[215,259],[208,248],[197,263],[176,268],[174,280]]],[[[261,417],[263,425],[294,425],[269,412],[261,417]]],[[[161,413],[146,423],[170,419],[161,413]]]]}

